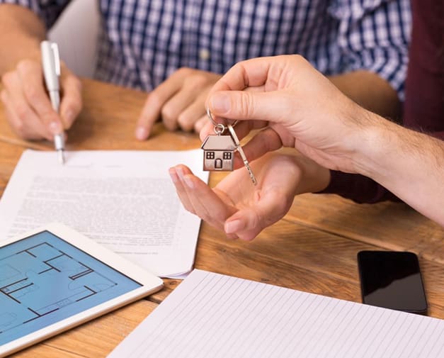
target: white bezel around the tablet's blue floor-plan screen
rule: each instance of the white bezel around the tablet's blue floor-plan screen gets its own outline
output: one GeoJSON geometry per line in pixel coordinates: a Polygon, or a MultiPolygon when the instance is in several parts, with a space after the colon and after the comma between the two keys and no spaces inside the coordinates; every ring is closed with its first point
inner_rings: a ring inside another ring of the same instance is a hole
{"type": "Polygon", "coordinates": [[[159,279],[159,277],[154,276],[154,274],[147,272],[147,270],[142,269],[120,255],[115,254],[115,252],[108,250],[102,245],[99,245],[97,242],[94,242],[81,233],[59,223],[51,223],[42,228],[38,228],[11,239],[1,241],[0,248],[44,231],[49,231],[53,235],[68,242],[69,245],[84,251],[94,259],[97,259],[98,261],[103,262],[103,264],[106,264],[112,269],[120,272],[120,274],[124,274],[130,279],[137,281],[137,283],[141,284],[142,286],[130,292],[124,293],[123,295],[112,298],[109,301],[100,303],[97,306],[87,309],[86,311],[76,313],[75,315],[64,318],[59,322],[52,323],[45,328],[40,328],[35,332],[29,333],[28,335],[1,345],[0,357],[17,352],[18,350],[29,347],[30,345],[52,337],[53,335],[57,335],[60,332],[74,328],[76,325],[81,325],[81,323],[85,323],[86,321],[96,318],[99,315],[103,315],[125,306],[127,303],[131,303],[139,298],[148,296],[151,293],[159,291],[164,284],[163,281],[159,279]]]}

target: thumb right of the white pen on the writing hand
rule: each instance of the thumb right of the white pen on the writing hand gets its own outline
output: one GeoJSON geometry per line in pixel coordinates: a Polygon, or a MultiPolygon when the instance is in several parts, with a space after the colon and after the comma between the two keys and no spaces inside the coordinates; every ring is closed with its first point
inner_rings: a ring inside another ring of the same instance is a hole
{"type": "Polygon", "coordinates": [[[59,113],[63,128],[67,130],[71,128],[72,123],[81,111],[81,82],[67,67],[63,67],[60,84],[63,96],[59,113]]]}

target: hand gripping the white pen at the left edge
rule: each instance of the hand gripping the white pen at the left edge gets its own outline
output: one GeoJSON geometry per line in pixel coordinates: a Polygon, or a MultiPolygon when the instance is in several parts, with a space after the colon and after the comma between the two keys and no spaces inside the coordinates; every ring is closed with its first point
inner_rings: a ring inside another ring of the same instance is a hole
{"type": "Polygon", "coordinates": [[[1,77],[1,101],[14,132],[28,140],[54,140],[54,135],[71,127],[81,110],[81,82],[61,63],[62,99],[59,113],[52,109],[43,82],[42,66],[22,60],[1,77]]]}

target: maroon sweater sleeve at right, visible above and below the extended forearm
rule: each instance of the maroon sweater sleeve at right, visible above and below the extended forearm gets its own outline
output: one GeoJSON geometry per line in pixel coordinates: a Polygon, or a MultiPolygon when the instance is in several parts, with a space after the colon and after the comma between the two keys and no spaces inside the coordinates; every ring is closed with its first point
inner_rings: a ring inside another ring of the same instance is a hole
{"type": "MultiPolygon", "coordinates": [[[[444,140],[444,1],[412,0],[413,30],[406,79],[403,124],[444,140]]],[[[358,203],[399,201],[368,177],[331,171],[321,193],[358,203]]]]}

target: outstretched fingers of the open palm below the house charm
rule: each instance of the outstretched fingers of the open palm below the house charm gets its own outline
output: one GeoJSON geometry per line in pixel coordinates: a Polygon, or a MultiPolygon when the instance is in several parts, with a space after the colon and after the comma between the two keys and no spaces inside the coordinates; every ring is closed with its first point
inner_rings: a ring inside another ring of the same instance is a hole
{"type": "Polygon", "coordinates": [[[186,210],[194,213],[215,228],[222,230],[224,221],[237,211],[227,205],[215,191],[184,165],[169,169],[170,177],[186,210]]]}

